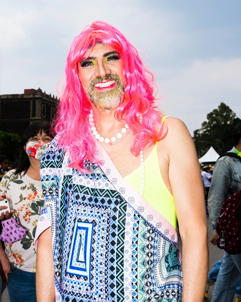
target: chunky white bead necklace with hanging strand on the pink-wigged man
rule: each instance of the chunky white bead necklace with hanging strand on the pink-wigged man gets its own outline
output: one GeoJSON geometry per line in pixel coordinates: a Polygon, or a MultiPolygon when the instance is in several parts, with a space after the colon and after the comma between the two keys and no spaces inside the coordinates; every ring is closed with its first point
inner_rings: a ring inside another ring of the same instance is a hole
{"type": "MultiPolygon", "coordinates": [[[[142,117],[140,117],[140,122],[142,122],[142,117]]],[[[94,123],[94,119],[93,119],[93,111],[92,109],[90,110],[89,113],[89,125],[91,127],[91,131],[94,135],[94,137],[99,140],[100,142],[105,142],[109,145],[115,145],[120,143],[122,140],[124,140],[124,138],[127,136],[127,134],[130,132],[129,126],[127,124],[125,124],[125,128],[121,129],[121,133],[117,134],[117,137],[113,136],[111,137],[111,140],[106,137],[104,138],[97,130],[95,127],[95,123],[94,123]],[[128,131],[127,131],[128,129],[128,131]],[[122,137],[122,134],[124,134],[124,137],[122,137]],[[119,140],[118,142],[116,141],[117,138],[121,138],[121,140],[119,140]]],[[[143,150],[140,151],[140,160],[141,160],[141,193],[140,195],[143,196],[144,194],[144,190],[145,190],[145,164],[144,164],[144,155],[143,155],[143,150]]]]}

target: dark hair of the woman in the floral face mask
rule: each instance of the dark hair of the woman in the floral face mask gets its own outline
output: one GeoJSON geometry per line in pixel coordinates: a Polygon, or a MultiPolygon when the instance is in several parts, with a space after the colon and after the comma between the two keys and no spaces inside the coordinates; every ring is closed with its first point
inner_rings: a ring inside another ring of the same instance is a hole
{"type": "MultiPolygon", "coordinates": [[[[37,135],[40,132],[44,131],[45,133],[49,134],[49,128],[50,125],[47,122],[34,122],[33,124],[29,125],[27,127],[27,129],[25,130],[25,132],[23,133],[23,137],[22,140],[20,142],[20,148],[21,148],[21,157],[20,160],[17,164],[16,167],[16,171],[14,172],[14,175],[17,175],[21,172],[24,171],[24,175],[27,172],[29,166],[30,166],[30,161],[29,161],[29,157],[26,153],[26,151],[23,149],[23,147],[26,145],[27,141],[31,138],[31,137],[35,137],[35,135],[37,135]]],[[[51,135],[50,135],[51,136],[51,135]]]]}

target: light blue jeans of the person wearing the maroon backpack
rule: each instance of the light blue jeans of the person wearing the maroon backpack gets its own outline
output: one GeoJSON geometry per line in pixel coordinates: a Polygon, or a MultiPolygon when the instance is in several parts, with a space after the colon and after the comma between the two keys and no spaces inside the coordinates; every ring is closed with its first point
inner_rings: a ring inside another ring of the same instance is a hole
{"type": "Polygon", "coordinates": [[[211,302],[232,302],[241,276],[241,254],[224,252],[211,302]]]}

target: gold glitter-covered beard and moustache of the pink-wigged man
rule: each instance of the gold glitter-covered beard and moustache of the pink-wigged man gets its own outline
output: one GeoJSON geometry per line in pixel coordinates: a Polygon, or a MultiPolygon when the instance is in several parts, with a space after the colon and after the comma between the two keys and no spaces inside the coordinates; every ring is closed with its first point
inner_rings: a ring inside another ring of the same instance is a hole
{"type": "Polygon", "coordinates": [[[89,83],[89,89],[86,93],[90,97],[90,101],[101,110],[113,110],[116,109],[123,102],[124,98],[124,85],[121,82],[121,78],[117,75],[107,75],[104,78],[96,77],[89,83]],[[94,85],[103,81],[116,81],[116,87],[103,91],[94,92],[94,85]]]}

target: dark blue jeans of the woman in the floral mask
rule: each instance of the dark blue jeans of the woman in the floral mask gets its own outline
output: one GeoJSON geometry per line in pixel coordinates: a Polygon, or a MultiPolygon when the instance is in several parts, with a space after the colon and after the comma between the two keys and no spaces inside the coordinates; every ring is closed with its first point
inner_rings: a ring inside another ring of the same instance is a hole
{"type": "Polygon", "coordinates": [[[36,302],[35,273],[23,271],[11,265],[8,273],[8,294],[11,302],[36,302]]]}

